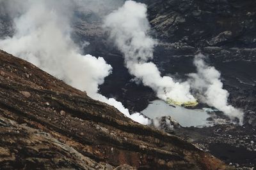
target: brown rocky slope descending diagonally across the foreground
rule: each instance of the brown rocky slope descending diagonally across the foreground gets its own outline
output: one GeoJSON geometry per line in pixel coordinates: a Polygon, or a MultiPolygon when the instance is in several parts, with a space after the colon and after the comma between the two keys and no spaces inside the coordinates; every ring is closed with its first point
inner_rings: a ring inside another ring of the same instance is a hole
{"type": "Polygon", "coordinates": [[[1,169],[227,168],[3,51],[0,134],[1,169]]]}

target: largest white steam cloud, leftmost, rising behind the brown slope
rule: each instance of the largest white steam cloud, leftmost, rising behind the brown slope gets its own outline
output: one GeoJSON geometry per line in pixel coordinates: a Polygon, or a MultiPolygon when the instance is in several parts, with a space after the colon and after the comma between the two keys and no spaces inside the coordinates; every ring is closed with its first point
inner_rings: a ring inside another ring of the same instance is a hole
{"type": "MultiPolygon", "coordinates": [[[[64,80],[88,96],[115,106],[127,117],[141,124],[147,118],[139,113],[130,115],[122,103],[98,93],[99,85],[111,74],[112,67],[102,57],[81,55],[71,39],[70,20],[76,1],[8,0],[0,1],[8,8],[20,7],[10,13],[15,34],[0,40],[0,48],[28,60],[50,74],[64,80]]],[[[81,3],[81,1],[79,1],[81,3]]]]}

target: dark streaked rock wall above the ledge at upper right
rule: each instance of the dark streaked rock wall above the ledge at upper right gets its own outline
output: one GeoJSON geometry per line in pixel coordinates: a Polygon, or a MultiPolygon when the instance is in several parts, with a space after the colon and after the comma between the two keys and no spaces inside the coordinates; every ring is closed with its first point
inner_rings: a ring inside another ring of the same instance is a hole
{"type": "Polygon", "coordinates": [[[255,1],[169,0],[148,4],[151,24],[168,42],[195,47],[256,45],[255,1]]]}

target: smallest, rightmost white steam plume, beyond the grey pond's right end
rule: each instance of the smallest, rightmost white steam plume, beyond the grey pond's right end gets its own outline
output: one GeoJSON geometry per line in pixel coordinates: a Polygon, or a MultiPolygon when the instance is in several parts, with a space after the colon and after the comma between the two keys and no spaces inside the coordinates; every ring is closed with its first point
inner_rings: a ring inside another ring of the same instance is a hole
{"type": "Polygon", "coordinates": [[[191,73],[191,87],[198,92],[201,102],[213,106],[223,111],[225,115],[232,118],[239,118],[239,123],[243,124],[243,111],[228,104],[228,91],[223,89],[221,74],[212,66],[207,66],[204,62],[205,56],[198,54],[195,56],[194,64],[197,73],[191,73]]]}

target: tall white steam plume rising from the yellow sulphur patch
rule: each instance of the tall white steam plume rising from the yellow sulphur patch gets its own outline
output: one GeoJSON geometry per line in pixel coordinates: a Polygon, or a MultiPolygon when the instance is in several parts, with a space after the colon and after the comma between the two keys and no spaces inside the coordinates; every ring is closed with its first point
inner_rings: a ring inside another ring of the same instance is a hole
{"type": "Polygon", "coordinates": [[[136,80],[151,87],[157,97],[164,101],[170,98],[177,103],[196,101],[189,92],[189,83],[179,83],[170,76],[161,76],[156,64],[148,62],[153,58],[157,41],[148,35],[150,24],[145,4],[126,1],[124,6],[106,17],[104,27],[118,49],[124,53],[125,66],[129,73],[136,80]]]}

